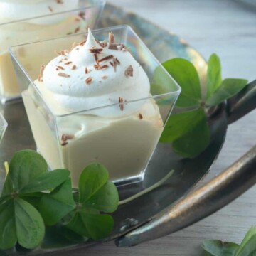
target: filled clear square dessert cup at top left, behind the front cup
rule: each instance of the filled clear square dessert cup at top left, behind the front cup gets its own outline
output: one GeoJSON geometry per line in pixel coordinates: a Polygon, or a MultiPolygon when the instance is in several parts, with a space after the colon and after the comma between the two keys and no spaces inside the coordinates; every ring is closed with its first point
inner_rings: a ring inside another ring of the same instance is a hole
{"type": "MultiPolygon", "coordinates": [[[[18,0],[17,4],[7,0],[0,1],[1,103],[21,97],[8,52],[10,46],[81,33],[87,31],[88,27],[95,28],[104,6],[105,0],[60,0],[51,1],[50,4],[48,1],[41,1],[32,6],[19,4],[18,0]],[[30,11],[27,10],[28,8],[30,11]],[[4,9],[7,9],[10,14],[2,14],[4,9]],[[15,11],[18,15],[15,15],[15,11]]],[[[22,54],[26,55],[26,53],[19,53],[20,56],[22,54]]]]}

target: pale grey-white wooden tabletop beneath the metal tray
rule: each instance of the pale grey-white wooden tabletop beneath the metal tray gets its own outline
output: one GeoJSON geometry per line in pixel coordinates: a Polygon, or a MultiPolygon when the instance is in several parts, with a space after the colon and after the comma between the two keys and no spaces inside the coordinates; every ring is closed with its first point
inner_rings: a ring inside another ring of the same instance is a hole
{"type": "MultiPolygon", "coordinates": [[[[176,33],[205,58],[220,55],[223,78],[256,78],[256,9],[234,0],[109,0],[176,33]]],[[[256,110],[228,128],[223,150],[210,179],[256,144],[256,110]]],[[[255,166],[256,171],[256,166],[255,166]]],[[[242,181],[241,181],[242,182],[242,181]]],[[[222,210],[164,238],[136,247],[117,248],[114,242],[70,255],[202,255],[204,239],[240,242],[256,225],[256,186],[222,210]]]]}

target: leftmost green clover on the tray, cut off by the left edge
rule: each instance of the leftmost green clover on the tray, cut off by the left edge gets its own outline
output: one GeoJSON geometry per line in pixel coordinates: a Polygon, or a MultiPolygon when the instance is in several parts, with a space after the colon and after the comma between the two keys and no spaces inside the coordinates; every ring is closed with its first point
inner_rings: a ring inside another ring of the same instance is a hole
{"type": "Polygon", "coordinates": [[[70,171],[48,171],[43,157],[32,150],[17,151],[0,198],[0,249],[16,245],[33,249],[41,244],[45,225],[36,207],[46,191],[63,183],[70,171]]]}

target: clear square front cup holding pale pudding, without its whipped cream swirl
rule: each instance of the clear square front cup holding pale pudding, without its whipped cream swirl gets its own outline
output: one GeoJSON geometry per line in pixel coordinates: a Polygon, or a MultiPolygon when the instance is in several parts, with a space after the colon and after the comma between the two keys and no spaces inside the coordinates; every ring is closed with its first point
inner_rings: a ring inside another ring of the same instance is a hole
{"type": "Polygon", "coordinates": [[[130,49],[146,72],[151,86],[149,97],[80,112],[54,114],[34,82],[40,64],[55,58],[54,50],[70,48],[73,42],[85,40],[87,34],[10,48],[21,90],[28,88],[22,92],[22,96],[37,149],[48,161],[50,169],[70,169],[73,187],[78,186],[82,169],[92,162],[104,164],[110,179],[117,185],[142,181],[146,166],[181,91],[174,78],[129,26],[102,28],[92,33],[95,38],[103,41],[108,38],[110,31],[114,33],[116,42],[124,43],[130,49]],[[46,53],[43,50],[46,48],[51,50],[46,53]],[[25,55],[20,56],[20,52],[25,55]],[[27,60],[31,64],[29,68],[27,60]],[[118,118],[99,117],[96,114],[113,113],[123,108],[134,111],[118,118]]]}

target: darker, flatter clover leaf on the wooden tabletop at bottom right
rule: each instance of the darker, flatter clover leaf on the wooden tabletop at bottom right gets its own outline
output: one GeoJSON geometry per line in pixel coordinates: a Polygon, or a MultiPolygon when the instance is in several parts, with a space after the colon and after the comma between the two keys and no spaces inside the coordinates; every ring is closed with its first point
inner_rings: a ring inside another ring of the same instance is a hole
{"type": "Polygon", "coordinates": [[[220,240],[206,240],[203,242],[203,250],[213,256],[235,256],[239,245],[233,242],[221,242],[220,240]]]}

